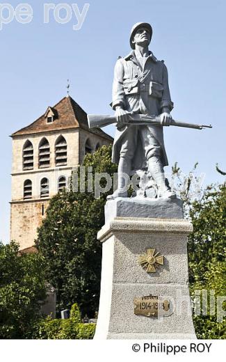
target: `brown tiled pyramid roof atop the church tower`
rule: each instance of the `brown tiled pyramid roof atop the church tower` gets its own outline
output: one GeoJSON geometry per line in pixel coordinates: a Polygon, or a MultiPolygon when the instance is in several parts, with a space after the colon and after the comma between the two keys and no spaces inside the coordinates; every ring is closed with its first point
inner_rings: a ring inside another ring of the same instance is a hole
{"type": "Polygon", "coordinates": [[[13,133],[12,136],[81,127],[91,133],[99,134],[99,136],[104,136],[113,141],[112,137],[103,132],[102,129],[89,129],[86,112],[81,109],[72,97],[64,97],[63,100],[60,100],[60,102],[54,107],[51,107],[51,109],[54,109],[56,114],[56,119],[53,123],[47,123],[47,118],[45,118],[44,113],[40,118],[35,120],[35,122],[31,123],[31,125],[19,129],[19,131],[13,133]]]}

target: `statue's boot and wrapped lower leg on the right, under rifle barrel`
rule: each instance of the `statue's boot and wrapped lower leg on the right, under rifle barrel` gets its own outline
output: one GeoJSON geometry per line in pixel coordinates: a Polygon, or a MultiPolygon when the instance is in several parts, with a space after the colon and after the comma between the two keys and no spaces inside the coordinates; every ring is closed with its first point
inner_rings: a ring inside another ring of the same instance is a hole
{"type": "Polygon", "coordinates": [[[171,191],[170,187],[166,185],[165,173],[163,165],[159,157],[153,156],[147,162],[148,171],[152,175],[154,182],[158,187],[158,197],[161,198],[175,198],[177,195],[174,191],[171,191]]]}

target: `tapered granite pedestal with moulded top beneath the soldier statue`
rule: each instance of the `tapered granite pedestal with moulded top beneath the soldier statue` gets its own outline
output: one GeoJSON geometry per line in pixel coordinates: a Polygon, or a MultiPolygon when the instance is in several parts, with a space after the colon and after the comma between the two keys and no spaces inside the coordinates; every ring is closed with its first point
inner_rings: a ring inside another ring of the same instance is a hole
{"type": "Polygon", "coordinates": [[[186,249],[192,230],[181,218],[114,217],[105,224],[98,233],[103,255],[95,338],[195,338],[186,249]],[[147,273],[139,265],[147,249],[164,256],[156,272],[147,273]],[[167,316],[134,314],[134,298],[150,294],[170,301],[167,316]]]}

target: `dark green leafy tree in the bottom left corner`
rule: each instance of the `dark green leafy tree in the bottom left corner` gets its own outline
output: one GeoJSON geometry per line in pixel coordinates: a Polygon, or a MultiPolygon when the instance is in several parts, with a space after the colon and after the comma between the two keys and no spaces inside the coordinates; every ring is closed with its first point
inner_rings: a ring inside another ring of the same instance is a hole
{"type": "Polygon", "coordinates": [[[45,260],[0,242],[0,338],[30,338],[45,300],[45,260]]]}

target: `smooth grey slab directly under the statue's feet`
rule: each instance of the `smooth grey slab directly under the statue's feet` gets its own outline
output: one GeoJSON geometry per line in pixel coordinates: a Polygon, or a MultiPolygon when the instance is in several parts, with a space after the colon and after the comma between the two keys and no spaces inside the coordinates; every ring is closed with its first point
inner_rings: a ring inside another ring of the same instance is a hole
{"type": "Polygon", "coordinates": [[[183,219],[183,203],[179,198],[115,198],[105,205],[105,222],[115,217],[183,219]]]}

